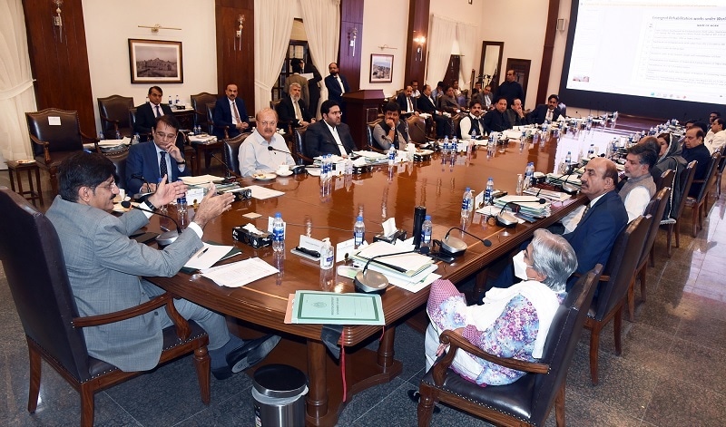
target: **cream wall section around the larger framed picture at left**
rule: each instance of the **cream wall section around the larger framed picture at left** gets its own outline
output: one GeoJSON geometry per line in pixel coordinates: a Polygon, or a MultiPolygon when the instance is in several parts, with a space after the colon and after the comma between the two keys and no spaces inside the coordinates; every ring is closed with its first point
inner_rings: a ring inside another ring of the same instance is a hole
{"type": "MultiPolygon", "coordinates": [[[[159,84],[164,102],[169,95],[191,103],[191,95],[217,92],[217,44],[214,2],[198,0],[83,0],[83,20],[93,102],[96,98],[120,94],[132,96],[134,105],[143,103],[152,84],[131,82],[128,39],[182,42],[184,82],[159,84]],[[140,14],[139,11],[143,11],[140,14]],[[182,28],[152,34],[138,25],[161,24],[182,28]]],[[[94,108],[96,129],[101,129],[98,108],[94,108]]]]}

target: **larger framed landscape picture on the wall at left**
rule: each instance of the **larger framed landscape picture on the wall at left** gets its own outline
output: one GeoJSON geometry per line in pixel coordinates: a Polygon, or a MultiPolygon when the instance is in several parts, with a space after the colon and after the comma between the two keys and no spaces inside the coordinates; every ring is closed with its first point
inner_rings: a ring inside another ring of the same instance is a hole
{"type": "Polygon", "coordinates": [[[129,39],[132,83],[183,83],[182,42],[129,39]]]}

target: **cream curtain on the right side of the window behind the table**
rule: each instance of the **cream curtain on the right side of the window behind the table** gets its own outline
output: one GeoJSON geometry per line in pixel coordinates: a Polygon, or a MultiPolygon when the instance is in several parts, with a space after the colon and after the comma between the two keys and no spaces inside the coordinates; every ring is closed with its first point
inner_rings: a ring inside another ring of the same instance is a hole
{"type": "MultiPolygon", "coordinates": [[[[308,34],[308,44],[315,68],[327,75],[328,64],[338,60],[340,44],[340,0],[300,0],[302,24],[308,34]]],[[[320,101],[328,99],[325,82],[320,82],[320,101]]],[[[310,110],[318,112],[318,105],[310,110]]]]}

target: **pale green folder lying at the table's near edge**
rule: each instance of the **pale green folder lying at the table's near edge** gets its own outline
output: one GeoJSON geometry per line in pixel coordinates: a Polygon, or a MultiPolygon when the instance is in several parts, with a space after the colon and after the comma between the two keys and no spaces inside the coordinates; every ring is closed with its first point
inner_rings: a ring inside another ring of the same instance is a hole
{"type": "Polygon", "coordinates": [[[299,290],[290,294],[285,323],[386,325],[377,294],[336,294],[299,290]]]}

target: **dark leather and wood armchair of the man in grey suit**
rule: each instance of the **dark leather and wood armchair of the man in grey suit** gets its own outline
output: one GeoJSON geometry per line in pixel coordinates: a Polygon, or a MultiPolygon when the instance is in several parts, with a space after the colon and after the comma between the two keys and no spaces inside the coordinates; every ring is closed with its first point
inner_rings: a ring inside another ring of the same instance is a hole
{"type": "Polygon", "coordinates": [[[35,412],[37,406],[44,360],[81,394],[81,425],[93,425],[93,395],[142,373],[122,372],[90,356],[81,328],[118,322],[162,306],[176,327],[163,331],[164,350],[159,362],[193,352],[201,400],[209,404],[209,336],[177,313],[172,295],[163,294],[141,306],[107,315],[79,317],[61,242],[50,220],[6,187],[0,187],[0,212],[5,219],[0,221],[0,259],[29,351],[28,412],[35,412]]]}

